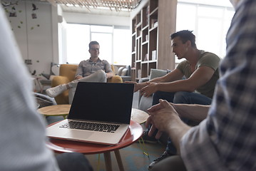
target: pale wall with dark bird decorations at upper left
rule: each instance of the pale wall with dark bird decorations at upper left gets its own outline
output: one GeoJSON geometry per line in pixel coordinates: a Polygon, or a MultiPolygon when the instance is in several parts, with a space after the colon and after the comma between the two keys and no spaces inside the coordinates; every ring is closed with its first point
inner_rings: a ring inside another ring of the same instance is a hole
{"type": "MultiPolygon", "coordinates": [[[[32,19],[32,3],[29,1],[19,1],[15,5],[16,17],[9,17],[6,12],[11,28],[14,31],[16,41],[21,51],[22,57],[30,59],[30,71],[36,70],[36,75],[50,72],[51,61],[58,58],[58,21],[56,6],[50,4],[34,2],[39,8],[34,13],[37,19],[32,19]]],[[[11,11],[12,6],[6,7],[11,11]]]]}

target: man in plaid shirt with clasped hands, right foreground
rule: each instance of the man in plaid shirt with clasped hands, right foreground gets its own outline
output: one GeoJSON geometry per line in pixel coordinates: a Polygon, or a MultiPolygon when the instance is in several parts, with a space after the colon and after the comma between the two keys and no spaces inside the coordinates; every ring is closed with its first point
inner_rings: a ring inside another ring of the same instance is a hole
{"type": "Polygon", "coordinates": [[[180,153],[153,170],[256,170],[256,1],[231,2],[235,15],[212,105],[160,100],[148,109],[149,135],[155,128],[167,132],[180,153]],[[179,116],[203,121],[190,128],[179,116]]]}

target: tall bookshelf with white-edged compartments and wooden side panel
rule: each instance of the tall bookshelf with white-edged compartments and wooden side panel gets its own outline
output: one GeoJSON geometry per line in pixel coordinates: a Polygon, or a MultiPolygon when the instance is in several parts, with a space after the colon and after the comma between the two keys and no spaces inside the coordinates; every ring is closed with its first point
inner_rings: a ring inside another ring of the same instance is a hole
{"type": "Polygon", "coordinates": [[[174,69],[170,34],[175,32],[177,0],[148,0],[131,14],[132,81],[150,75],[151,68],[174,69]]]}

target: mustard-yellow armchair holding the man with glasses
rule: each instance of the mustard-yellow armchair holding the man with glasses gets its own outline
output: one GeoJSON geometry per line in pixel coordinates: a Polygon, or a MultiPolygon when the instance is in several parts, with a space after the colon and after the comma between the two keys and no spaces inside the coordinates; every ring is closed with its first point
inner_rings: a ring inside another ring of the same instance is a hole
{"type": "MultiPolygon", "coordinates": [[[[69,83],[75,79],[76,70],[78,65],[72,64],[61,64],[59,76],[55,76],[51,82],[51,87],[56,87],[61,84],[69,83]]],[[[115,73],[115,68],[111,65],[111,69],[113,73],[115,73]]],[[[108,78],[108,82],[111,83],[123,83],[123,80],[120,76],[113,76],[112,78],[108,78]]],[[[60,95],[55,97],[56,103],[58,105],[68,104],[68,90],[64,91],[60,95]]]]}

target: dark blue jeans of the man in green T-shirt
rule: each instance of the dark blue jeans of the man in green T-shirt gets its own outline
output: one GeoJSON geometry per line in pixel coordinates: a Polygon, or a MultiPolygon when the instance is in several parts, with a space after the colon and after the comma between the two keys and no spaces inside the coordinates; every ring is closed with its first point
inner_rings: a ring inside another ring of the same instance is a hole
{"type": "MultiPolygon", "coordinates": [[[[210,105],[212,103],[212,99],[208,98],[205,95],[202,95],[200,93],[190,93],[187,91],[179,91],[176,93],[171,92],[163,92],[163,91],[157,91],[153,94],[153,103],[152,105],[156,105],[159,103],[159,99],[167,100],[170,103],[183,103],[183,104],[198,104],[198,105],[210,105]]],[[[190,125],[192,123],[192,120],[188,120],[185,118],[181,118],[184,123],[187,123],[190,125]]],[[[157,131],[155,131],[155,136],[157,131]]],[[[170,138],[168,138],[166,151],[169,154],[176,154],[176,148],[174,147],[173,143],[171,142],[170,138]]]]}

